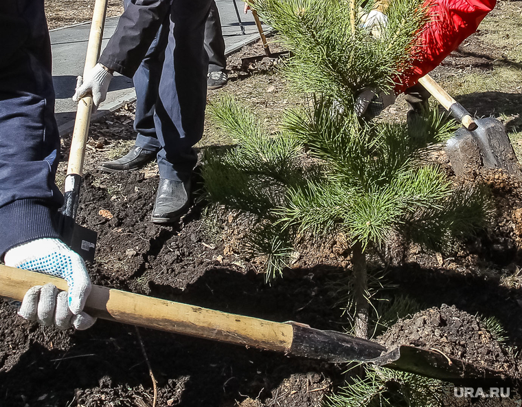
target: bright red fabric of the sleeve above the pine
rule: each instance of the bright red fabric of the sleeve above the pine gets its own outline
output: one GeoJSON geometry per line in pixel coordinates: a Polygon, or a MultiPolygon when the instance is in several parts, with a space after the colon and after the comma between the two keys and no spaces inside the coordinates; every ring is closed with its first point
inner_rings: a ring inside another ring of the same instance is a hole
{"type": "Polygon", "coordinates": [[[473,34],[497,0],[426,0],[430,21],[420,32],[413,67],[400,76],[397,93],[415,85],[473,34]]]}

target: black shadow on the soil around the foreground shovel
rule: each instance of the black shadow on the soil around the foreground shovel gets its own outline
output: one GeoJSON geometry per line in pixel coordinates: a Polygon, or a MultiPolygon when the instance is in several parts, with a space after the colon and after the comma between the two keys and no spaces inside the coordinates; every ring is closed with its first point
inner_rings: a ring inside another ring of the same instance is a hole
{"type": "MultiPolygon", "coordinates": [[[[339,277],[339,271],[324,265],[290,270],[285,278],[269,286],[260,274],[214,267],[183,292],[154,283],[150,283],[150,289],[152,296],[183,303],[269,320],[297,320],[339,331],[342,319],[332,294],[332,276],[339,277]]],[[[446,303],[470,314],[495,316],[511,338],[522,338],[521,290],[500,287],[484,278],[425,269],[417,263],[391,267],[387,281],[400,285],[400,294],[426,307],[446,303]]],[[[319,372],[332,377],[334,383],[341,377],[340,366],[332,364],[148,329],[140,331],[160,392],[166,392],[170,399],[178,397],[177,406],[227,406],[247,396],[266,399],[294,373],[319,372]]],[[[13,407],[64,406],[75,397],[73,389],[80,389],[80,399],[95,392],[100,404],[89,405],[102,406],[103,397],[132,400],[147,393],[136,388],[150,390],[148,368],[133,327],[100,320],[93,329],[73,333],[73,342],[67,351],[32,344],[16,366],[0,374],[0,400],[13,407]]]]}

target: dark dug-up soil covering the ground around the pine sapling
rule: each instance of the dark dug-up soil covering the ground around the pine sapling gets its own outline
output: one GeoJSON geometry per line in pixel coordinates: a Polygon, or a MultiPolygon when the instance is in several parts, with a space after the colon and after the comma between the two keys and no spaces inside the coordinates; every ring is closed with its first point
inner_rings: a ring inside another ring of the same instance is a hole
{"type": "MultiPolygon", "coordinates": [[[[47,0],[48,10],[52,3],[59,4],[47,0]]],[[[277,45],[271,48],[280,50],[277,45]]],[[[260,53],[258,43],[229,58],[231,80],[223,91],[254,107],[273,129],[281,112],[301,101],[291,99],[286,82],[274,74],[273,61],[261,61],[246,72],[238,68],[242,56],[260,53]]],[[[479,72],[502,58],[501,50],[486,47],[479,33],[434,75],[462,69],[479,72]]],[[[220,91],[210,92],[209,100],[220,91]]],[[[477,109],[487,111],[495,100],[492,96],[477,109]]],[[[400,104],[393,109],[391,115],[402,112],[400,104]]],[[[111,154],[132,144],[132,120],[133,107],[127,106],[91,126],[78,221],[99,234],[97,260],[89,265],[93,283],[343,331],[346,318],[337,290],[350,267],[345,236],[321,245],[305,242],[284,278],[267,284],[260,273],[262,260],[238,250],[245,224],[223,211],[212,221],[205,215],[201,192],[194,194],[195,203],[179,223],[153,225],[149,219],[159,179],[155,164],[120,175],[96,169],[100,161],[113,159],[111,154]]],[[[207,123],[205,133],[209,131],[207,123]]],[[[202,149],[215,148],[215,139],[209,138],[203,138],[202,149]]],[[[68,142],[66,137],[63,146],[68,142]]],[[[436,153],[434,159],[451,175],[444,153],[436,153]]],[[[63,177],[63,164],[60,168],[63,177]]],[[[470,175],[467,181],[476,177],[470,175]]],[[[197,177],[194,181],[200,185],[197,177]]],[[[456,308],[424,311],[410,320],[413,326],[402,321],[389,336],[394,344],[413,340],[416,346],[506,369],[516,361],[472,316],[495,316],[508,333],[506,346],[522,346],[522,199],[520,186],[503,175],[493,174],[486,181],[495,196],[491,228],[452,253],[402,247],[403,264],[389,267],[385,274],[387,285],[398,286],[393,295],[408,295],[423,307],[456,308]],[[453,318],[461,320],[461,327],[442,326],[443,320],[453,318]],[[422,329],[415,325],[419,319],[422,329]],[[462,344],[466,336],[471,340],[462,344]]],[[[370,260],[382,269],[378,256],[370,260]]],[[[343,384],[345,366],[146,329],[139,332],[158,384],[157,406],[321,406],[328,392],[343,384]]],[[[146,356],[134,327],[100,320],[88,331],[60,332],[21,320],[12,305],[0,301],[0,406],[143,407],[152,406],[152,397],[146,356]]]]}

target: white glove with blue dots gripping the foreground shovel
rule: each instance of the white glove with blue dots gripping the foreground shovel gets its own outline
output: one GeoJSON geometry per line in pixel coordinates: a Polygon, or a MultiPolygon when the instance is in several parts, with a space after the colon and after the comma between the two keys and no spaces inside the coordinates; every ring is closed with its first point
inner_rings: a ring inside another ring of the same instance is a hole
{"type": "Polygon", "coordinates": [[[59,239],[36,239],[8,250],[4,263],[33,272],[64,278],[67,292],[58,292],[52,284],[36,285],[25,293],[19,316],[38,321],[41,325],[56,325],[59,329],[87,329],[95,318],[82,309],[91,292],[91,280],[85,263],[76,252],[59,239]]]}

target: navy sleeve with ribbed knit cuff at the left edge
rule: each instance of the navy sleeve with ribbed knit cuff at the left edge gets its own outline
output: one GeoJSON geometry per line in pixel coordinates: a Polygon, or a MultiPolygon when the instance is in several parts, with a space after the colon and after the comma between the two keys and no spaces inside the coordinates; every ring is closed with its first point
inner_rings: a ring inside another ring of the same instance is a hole
{"type": "Polygon", "coordinates": [[[52,217],[63,201],[54,183],[60,138],[43,0],[5,1],[0,5],[0,256],[13,245],[57,237],[52,217]]]}

